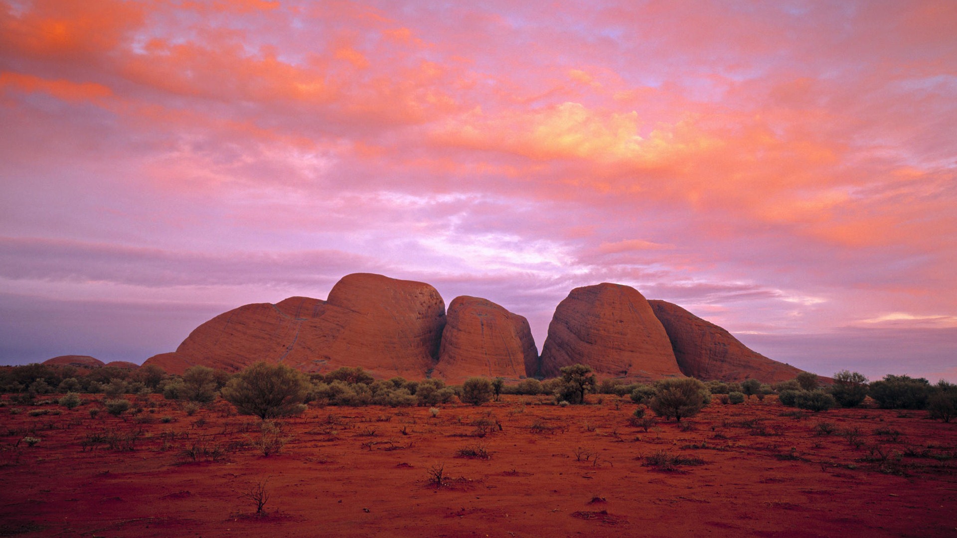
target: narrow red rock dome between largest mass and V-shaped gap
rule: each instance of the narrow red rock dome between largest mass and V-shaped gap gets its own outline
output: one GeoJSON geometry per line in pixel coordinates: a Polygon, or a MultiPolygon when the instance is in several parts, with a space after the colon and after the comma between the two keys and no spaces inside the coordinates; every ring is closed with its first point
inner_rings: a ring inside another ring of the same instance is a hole
{"type": "Polygon", "coordinates": [[[528,321],[478,297],[449,304],[433,376],[457,384],[473,376],[517,380],[534,375],[538,349],[528,321]]]}

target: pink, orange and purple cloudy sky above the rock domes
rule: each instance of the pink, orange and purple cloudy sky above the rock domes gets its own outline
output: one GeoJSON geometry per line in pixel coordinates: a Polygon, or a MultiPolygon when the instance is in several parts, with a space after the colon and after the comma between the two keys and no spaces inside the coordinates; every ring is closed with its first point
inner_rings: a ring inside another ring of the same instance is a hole
{"type": "Polygon", "coordinates": [[[957,3],[0,0],[0,364],[349,273],[957,381],[957,3]]]}

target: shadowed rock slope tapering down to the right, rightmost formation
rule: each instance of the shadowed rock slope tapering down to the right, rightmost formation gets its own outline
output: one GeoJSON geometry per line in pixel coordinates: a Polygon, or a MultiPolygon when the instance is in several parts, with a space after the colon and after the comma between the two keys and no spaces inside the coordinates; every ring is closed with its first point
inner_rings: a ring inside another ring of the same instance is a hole
{"type": "Polygon", "coordinates": [[[801,372],[748,349],[722,327],[702,320],[678,304],[657,300],[648,303],[664,325],[678,366],[685,375],[703,380],[752,378],[776,383],[793,379],[801,372]]]}

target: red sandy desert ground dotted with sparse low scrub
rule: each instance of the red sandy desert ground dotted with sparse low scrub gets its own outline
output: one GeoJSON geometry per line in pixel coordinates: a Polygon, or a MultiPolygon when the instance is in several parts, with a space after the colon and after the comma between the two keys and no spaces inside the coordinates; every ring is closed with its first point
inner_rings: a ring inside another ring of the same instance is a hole
{"type": "Polygon", "coordinates": [[[924,411],[771,395],[646,432],[628,397],[503,395],[310,407],[264,435],[222,400],[110,415],[83,397],[3,400],[0,535],[957,535],[957,422],[924,411]]]}

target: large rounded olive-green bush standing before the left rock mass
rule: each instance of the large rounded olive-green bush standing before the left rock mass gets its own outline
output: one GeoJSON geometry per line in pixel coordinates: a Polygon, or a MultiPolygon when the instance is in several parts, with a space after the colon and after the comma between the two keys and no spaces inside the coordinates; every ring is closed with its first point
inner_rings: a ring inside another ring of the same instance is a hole
{"type": "Polygon", "coordinates": [[[302,413],[309,388],[299,370],[260,362],[236,374],[222,395],[239,413],[266,419],[302,413]]]}

